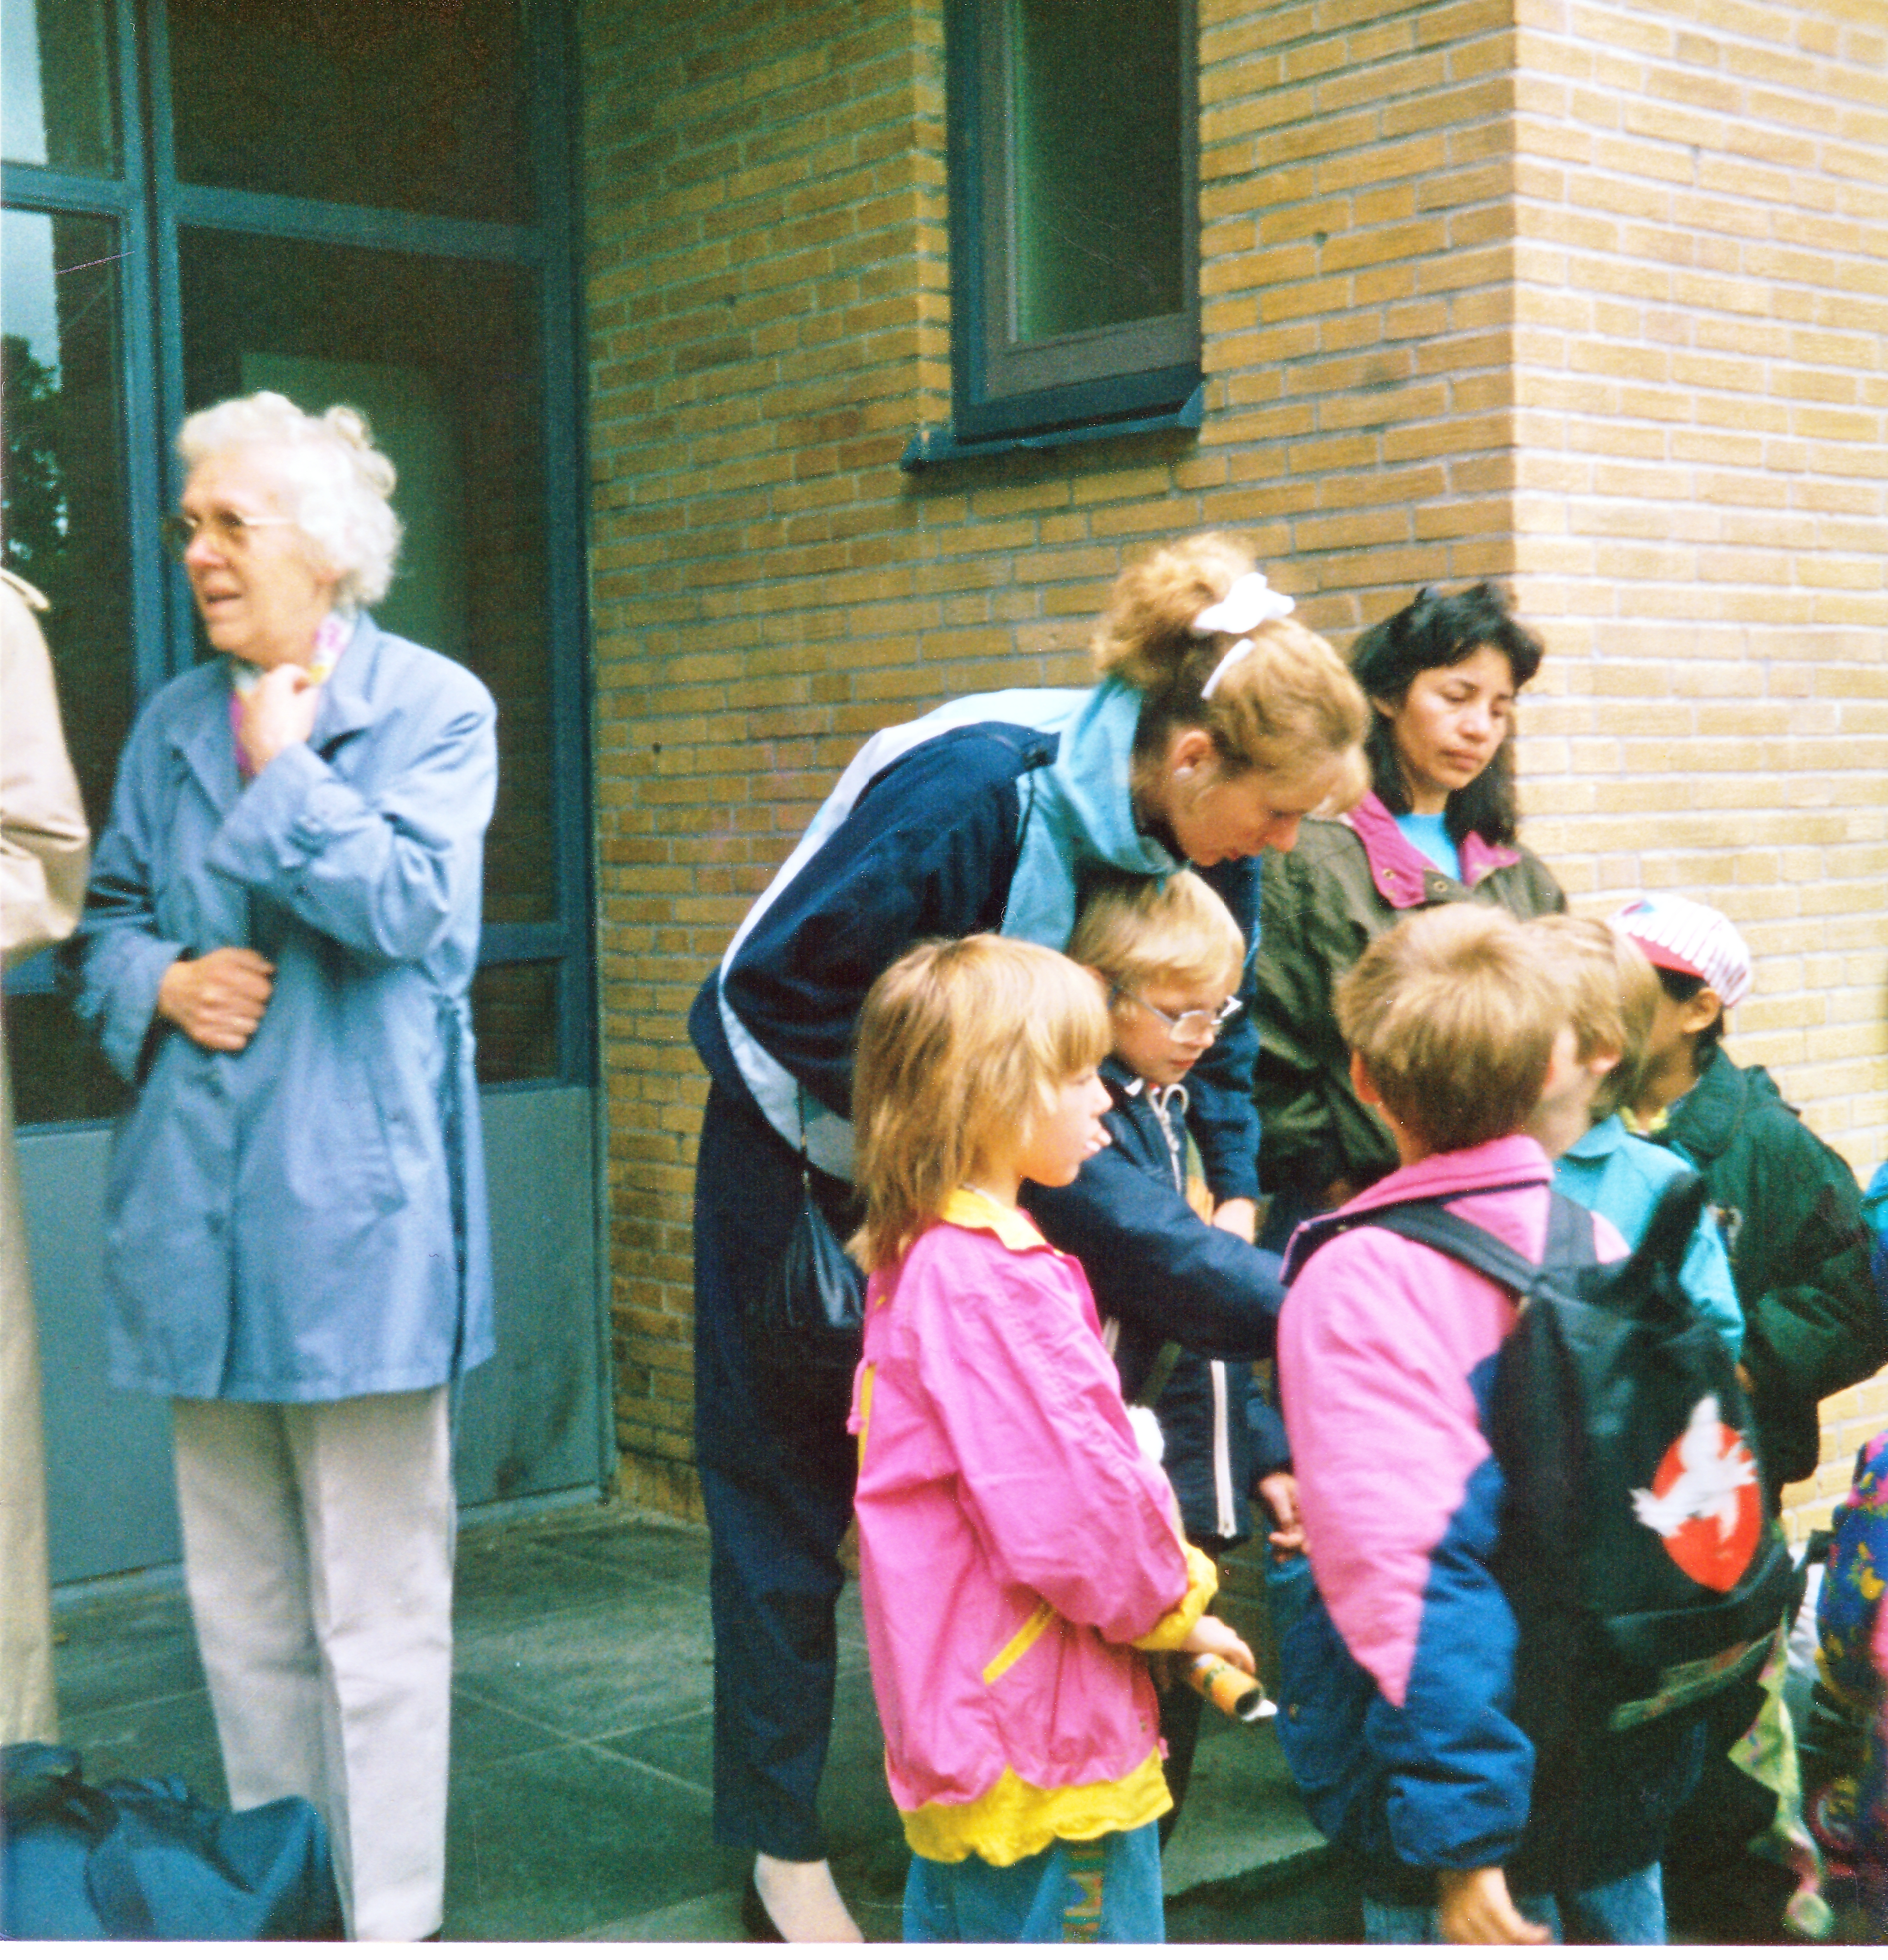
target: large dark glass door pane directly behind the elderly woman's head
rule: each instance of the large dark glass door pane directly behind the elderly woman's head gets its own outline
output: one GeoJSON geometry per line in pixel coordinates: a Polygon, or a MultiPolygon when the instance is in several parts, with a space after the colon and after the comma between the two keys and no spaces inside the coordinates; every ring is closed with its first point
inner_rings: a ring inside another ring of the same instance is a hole
{"type": "Polygon", "coordinates": [[[374,619],[465,661],[498,698],[484,915],[555,919],[531,274],[224,231],[186,231],[180,257],[190,408],[257,388],[314,414],[349,402],[392,457],[406,543],[374,619]]]}

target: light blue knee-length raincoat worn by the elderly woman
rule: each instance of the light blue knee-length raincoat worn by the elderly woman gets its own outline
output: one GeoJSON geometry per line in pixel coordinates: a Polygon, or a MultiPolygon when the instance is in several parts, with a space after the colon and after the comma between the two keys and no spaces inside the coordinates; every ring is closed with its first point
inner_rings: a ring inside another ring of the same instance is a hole
{"type": "Polygon", "coordinates": [[[308,743],[235,766],[229,670],[131,729],[84,919],[80,1017],[137,1090],[112,1141],[112,1382],[331,1401],[492,1352],[469,990],[496,710],[455,661],[357,621],[308,743]],[[157,1019],[165,968],[274,962],[241,1054],[157,1019]]]}

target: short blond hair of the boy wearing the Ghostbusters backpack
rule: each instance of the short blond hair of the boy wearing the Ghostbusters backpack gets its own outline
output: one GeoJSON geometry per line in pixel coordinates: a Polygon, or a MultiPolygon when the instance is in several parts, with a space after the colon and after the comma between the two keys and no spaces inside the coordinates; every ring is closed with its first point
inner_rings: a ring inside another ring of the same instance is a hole
{"type": "Polygon", "coordinates": [[[1372,939],[1335,1005],[1384,1107],[1431,1151],[1525,1127],[1570,1019],[1565,980],[1494,906],[1435,906],[1372,939]]]}

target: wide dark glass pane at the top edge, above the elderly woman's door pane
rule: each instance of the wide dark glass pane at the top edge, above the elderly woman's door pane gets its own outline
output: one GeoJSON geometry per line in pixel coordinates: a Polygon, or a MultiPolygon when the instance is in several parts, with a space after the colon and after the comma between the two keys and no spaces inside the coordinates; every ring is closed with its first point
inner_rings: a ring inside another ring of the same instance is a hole
{"type": "Polygon", "coordinates": [[[518,16],[520,0],[171,0],[176,174],[522,221],[518,16]]]}

